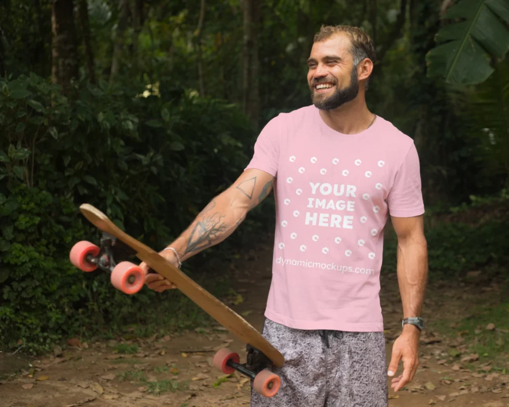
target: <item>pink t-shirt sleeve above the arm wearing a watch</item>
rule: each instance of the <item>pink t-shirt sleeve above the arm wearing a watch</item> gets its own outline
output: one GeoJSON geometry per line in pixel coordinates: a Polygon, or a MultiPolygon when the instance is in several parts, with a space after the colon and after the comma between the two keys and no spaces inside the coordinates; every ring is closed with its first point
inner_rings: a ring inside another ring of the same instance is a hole
{"type": "Polygon", "coordinates": [[[403,163],[396,172],[394,184],[387,197],[391,216],[408,218],[424,213],[419,156],[412,142],[403,163]]]}

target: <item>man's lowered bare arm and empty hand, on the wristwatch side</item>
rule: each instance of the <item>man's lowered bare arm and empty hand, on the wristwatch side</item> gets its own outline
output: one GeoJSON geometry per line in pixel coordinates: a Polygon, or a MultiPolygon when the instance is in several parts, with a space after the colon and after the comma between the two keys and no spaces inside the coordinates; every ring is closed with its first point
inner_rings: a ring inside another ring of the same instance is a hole
{"type": "MultiPolygon", "coordinates": [[[[421,316],[428,277],[428,248],[422,215],[409,218],[391,217],[398,236],[398,283],[403,304],[403,318],[421,316]]],[[[419,365],[420,330],[406,324],[392,346],[387,374],[393,376],[400,360],[403,373],[392,379],[391,388],[399,391],[413,380],[419,365]]]]}

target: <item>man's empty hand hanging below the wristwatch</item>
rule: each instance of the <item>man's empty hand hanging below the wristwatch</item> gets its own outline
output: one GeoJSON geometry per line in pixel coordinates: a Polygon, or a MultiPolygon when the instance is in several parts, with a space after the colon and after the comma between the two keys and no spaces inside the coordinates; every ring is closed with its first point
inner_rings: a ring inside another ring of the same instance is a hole
{"type": "Polygon", "coordinates": [[[403,361],[403,374],[392,379],[391,388],[397,392],[413,380],[417,366],[419,366],[419,336],[420,332],[413,325],[405,325],[403,332],[392,345],[392,358],[387,375],[393,376],[398,370],[400,360],[403,361]]]}

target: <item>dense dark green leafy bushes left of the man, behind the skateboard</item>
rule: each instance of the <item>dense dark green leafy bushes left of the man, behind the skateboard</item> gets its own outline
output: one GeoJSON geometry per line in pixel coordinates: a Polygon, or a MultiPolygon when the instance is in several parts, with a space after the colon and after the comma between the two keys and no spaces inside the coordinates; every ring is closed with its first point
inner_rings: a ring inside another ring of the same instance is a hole
{"type": "MultiPolygon", "coordinates": [[[[67,99],[34,74],[0,89],[0,342],[39,352],[86,322],[97,331],[154,301],[69,263],[76,241],[98,236],[80,203],[158,250],[240,175],[254,135],[235,106],[183,90],[140,97],[78,83],[67,99]]],[[[258,215],[237,236],[260,226],[258,215]]]]}

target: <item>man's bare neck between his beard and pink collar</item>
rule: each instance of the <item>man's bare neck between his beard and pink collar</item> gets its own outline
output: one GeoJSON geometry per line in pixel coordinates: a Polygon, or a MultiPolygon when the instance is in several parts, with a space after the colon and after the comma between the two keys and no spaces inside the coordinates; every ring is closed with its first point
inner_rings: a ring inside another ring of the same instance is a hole
{"type": "Polygon", "coordinates": [[[375,115],[363,99],[357,99],[334,110],[320,110],[320,117],[332,130],[343,134],[360,133],[370,127],[375,115]]]}

